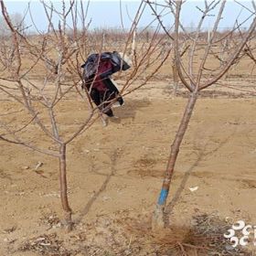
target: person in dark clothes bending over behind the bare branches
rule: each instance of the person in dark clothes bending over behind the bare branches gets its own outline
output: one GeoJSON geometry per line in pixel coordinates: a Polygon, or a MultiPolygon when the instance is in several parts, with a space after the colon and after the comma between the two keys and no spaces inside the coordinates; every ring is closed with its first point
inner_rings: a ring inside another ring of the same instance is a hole
{"type": "MultiPolygon", "coordinates": [[[[126,60],[126,59],[125,59],[126,60]]],[[[121,54],[103,52],[91,54],[83,68],[84,90],[89,91],[91,100],[98,106],[101,112],[109,117],[114,117],[112,112],[112,100],[123,105],[123,98],[119,95],[111,76],[121,70],[130,69],[131,66],[121,57],[121,54]]]]}

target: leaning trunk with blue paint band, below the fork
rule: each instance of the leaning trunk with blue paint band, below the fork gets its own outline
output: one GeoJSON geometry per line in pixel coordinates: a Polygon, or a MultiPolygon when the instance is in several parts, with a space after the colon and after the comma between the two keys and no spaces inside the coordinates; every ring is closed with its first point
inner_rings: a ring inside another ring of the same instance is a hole
{"type": "Polygon", "coordinates": [[[183,114],[178,131],[176,133],[175,140],[172,144],[171,154],[169,156],[169,160],[166,166],[163,186],[162,186],[161,193],[159,195],[159,198],[155,207],[155,213],[152,219],[152,229],[165,228],[164,211],[165,211],[166,198],[169,193],[169,188],[170,188],[171,179],[174,173],[174,168],[176,165],[176,158],[179,152],[179,147],[187,131],[187,126],[190,121],[196,102],[197,102],[197,91],[190,92],[189,99],[187,101],[186,110],[183,114]]]}

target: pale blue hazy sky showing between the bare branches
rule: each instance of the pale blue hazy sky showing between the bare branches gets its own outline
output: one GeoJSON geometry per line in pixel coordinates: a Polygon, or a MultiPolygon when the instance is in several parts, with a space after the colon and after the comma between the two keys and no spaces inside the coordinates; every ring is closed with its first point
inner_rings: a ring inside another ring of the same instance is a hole
{"type": "MultiPolygon", "coordinates": [[[[58,1],[52,1],[56,8],[60,8],[61,4],[58,1]]],[[[208,1],[209,2],[209,1],[208,1]]],[[[5,5],[10,13],[20,13],[23,14],[27,8],[28,1],[10,1],[5,0],[5,5]]],[[[86,5],[87,1],[84,1],[86,5]]],[[[120,5],[122,6],[123,13],[123,25],[128,28],[131,26],[131,20],[128,17],[128,14],[131,18],[135,15],[136,9],[140,5],[141,1],[98,1],[91,0],[89,6],[89,13],[87,20],[91,19],[91,29],[95,27],[121,27],[121,16],[120,16],[120,5]]],[[[157,3],[165,3],[164,1],[157,0],[157,3]]],[[[251,6],[249,1],[240,1],[242,5],[251,6]]],[[[69,1],[67,1],[67,5],[69,1]]],[[[46,16],[44,15],[43,8],[39,1],[30,1],[31,10],[33,13],[33,19],[37,24],[37,27],[41,30],[46,27],[46,16]]],[[[194,27],[197,24],[197,21],[201,15],[200,11],[196,6],[203,7],[204,1],[192,1],[188,0],[182,9],[181,20],[186,27],[194,27]]],[[[162,7],[158,6],[157,11],[160,11],[162,7]]],[[[240,20],[244,20],[246,16],[250,14],[248,10],[244,10],[240,13],[241,5],[238,5],[234,1],[228,1],[226,10],[224,12],[224,18],[220,23],[220,27],[233,27],[236,17],[240,14],[240,20]]],[[[166,9],[163,14],[166,14],[168,10],[166,9]]],[[[173,21],[171,15],[162,17],[166,27],[170,27],[173,21]]],[[[154,20],[152,11],[149,7],[145,9],[144,16],[140,21],[139,27],[144,27],[154,20]]],[[[57,20],[56,20],[57,21],[57,20]]],[[[29,17],[26,19],[27,25],[31,25],[31,20],[29,17]]],[[[210,27],[213,23],[213,17],[208,17],[204,27],[210,27]]],[[[155,26],[156,23],[153,24],[155,26]]],[[[248,23],[245,26],[248,26],[248,23]]]]}

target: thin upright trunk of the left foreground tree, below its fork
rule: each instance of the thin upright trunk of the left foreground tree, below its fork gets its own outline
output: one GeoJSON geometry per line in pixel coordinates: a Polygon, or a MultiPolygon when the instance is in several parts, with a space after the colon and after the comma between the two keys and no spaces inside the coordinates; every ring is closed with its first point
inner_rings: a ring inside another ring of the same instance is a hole
{"type": "Polygon", "coordinates": [[[66,144],[59,147],[59,182],[60,199],[64,210],[64,227],[70,231],[72,229],[72,210],[69,207],[68,186],[67,186],[67,164],[66,164],[66,144]]]}

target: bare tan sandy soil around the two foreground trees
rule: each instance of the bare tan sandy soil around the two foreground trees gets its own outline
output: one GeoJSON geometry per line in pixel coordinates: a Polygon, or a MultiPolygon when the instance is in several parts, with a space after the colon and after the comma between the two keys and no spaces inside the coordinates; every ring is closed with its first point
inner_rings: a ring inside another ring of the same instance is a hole
{"type": "MultiPolygon", "coordinates": [[[[234,221],[256,224],[252,97],[216,94],[197,101],[168,197],[170,229],[150,230],[186,104],[184,97],[172,99],[166,88],[166,82],[155,82],[129,95],[114,110],[119,123],[102,128],[99,121],[69,145],[76,227],[68,234],[59,222],[58,161],[0,141],[0,255],[253,255],[256,247],[240,252],[223,239],[234,221]],[[38,162],[43,165],[35,171],[38,162]]],[[[2,101],[1,111],[10,103],[2,101]]],[[[61,105],[64,123],[72,124],[78,107],[75,99],[61,105]]],[[[31,136],[44,144],[40,134],[31,136]]]]}

